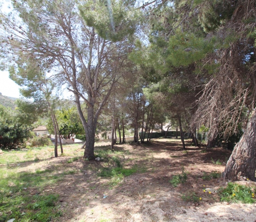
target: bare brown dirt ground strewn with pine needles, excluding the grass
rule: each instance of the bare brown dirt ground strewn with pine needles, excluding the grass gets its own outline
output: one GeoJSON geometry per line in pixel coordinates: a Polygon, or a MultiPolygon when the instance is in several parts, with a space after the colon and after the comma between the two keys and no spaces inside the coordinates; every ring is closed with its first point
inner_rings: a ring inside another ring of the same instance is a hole
{"type": "MultiPolygon", "coordinates": [[[[41,195],[60,195],[59,205],[64,213],[58,221],[256,222],[256,204],[219,202],[214,191],[211,194],[203,192],[205,188],[217,190],[227,184],[219,178],[203,180],[202,176],[213,171],[223,172],[231,151],[213,148],[202,152],[204,147],[187,145],[187,151],[184,152],[179,140],[175,139],[158,139],[142,145],[120,144],[114,149],[123,151],[121,162],[124,167],[136,165],[142,169],[140,173],[125,177],[114,187],[107,185],[110,178],[97,175],[98,170],[104,166],[104,160],[85,161],[81,157],[73,163],[67,163],[70,157],[64,156],[38,161],[33,165],[24,163],[20,170],[76,170],[74,174],[65,175],[62,182],[42,191],[41,195]],[[217,160],[221,165],[213,163],[217,160]],[[172,175],[180,174],[182,170],[188,175],[187,182],[174,188],[169,181],[172,175]],[[202,197],[202,201],[183,201],[182,195],[193,192],[202,197]]],[[[252,181],[242,183],[256,185],[252,181]]],[[[31,188],[31,193],[33,192],[35,191],[31,188]]]]}

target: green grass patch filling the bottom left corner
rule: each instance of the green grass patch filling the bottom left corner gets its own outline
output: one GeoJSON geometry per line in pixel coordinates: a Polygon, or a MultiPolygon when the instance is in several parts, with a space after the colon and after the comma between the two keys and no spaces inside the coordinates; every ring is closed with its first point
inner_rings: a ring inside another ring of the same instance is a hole
{"type": "Polygon", "coordinates": [[[52,170],[35,173],[16,173],[15,169],[0,170],[0,222],[11,218],[16,221],[47,222],[62,215],[57,210],[57,195],[39,195],[41,190],[55,184],[60,177],[49,174],[52,170]],[[33,189],[33,194],[30,190],[33,189]],[[36,193],[36,194],[34,194],[36,193]]]}

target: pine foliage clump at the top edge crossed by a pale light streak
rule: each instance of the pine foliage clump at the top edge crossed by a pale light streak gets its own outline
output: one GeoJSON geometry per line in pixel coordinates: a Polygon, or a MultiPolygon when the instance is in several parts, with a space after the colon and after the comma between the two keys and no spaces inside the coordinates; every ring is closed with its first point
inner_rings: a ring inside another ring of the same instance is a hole
{"type": "Polygon", "coordinates": [[[134,8],[134,3],[134,0],[88,0],[78,8],[86,24],[94,27],[99,36],[116,42],[136,30],[140,11],[134,8]]]}

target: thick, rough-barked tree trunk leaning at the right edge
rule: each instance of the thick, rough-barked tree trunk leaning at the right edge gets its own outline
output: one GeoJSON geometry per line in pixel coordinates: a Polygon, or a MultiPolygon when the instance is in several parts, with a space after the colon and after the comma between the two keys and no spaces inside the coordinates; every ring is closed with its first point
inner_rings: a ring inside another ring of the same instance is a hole
{"type": "Polygon", "coordinates": [[[226,180],[237,180],[240,177],[255,181],[256,170],[256,110],[247,124],[244,135],[236,144],[232,155],[222,174],[226,180]]]}

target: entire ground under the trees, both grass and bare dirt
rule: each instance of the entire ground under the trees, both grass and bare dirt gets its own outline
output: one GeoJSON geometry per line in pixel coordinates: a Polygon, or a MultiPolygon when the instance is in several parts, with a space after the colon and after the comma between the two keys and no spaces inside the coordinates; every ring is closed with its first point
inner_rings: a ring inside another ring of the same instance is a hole
{"type": "MultiPolygon", "coordinates": [[[[64,146],[58,158],[52,157],[53,147],[4,151],[0,222],[31,221],[35,215],[35,221],[58,222],[256,221],[255,203],[220,202],[217,194],[227,186],[219,176],[231,151],[192,147],[191,140],[184,151],[177,139],[120,144],[114,152],[109,145],[96,144],[100,161],[83,159],[78,144],[64,146]],[[184,183],[174,187],[173,175],[184,183]],[[57,197],[54,216],[45,218],[38,199],[53,199],[51,195],[57,197]]],[[[239,183],[256,186],[252,181],[239,183]]]]}

